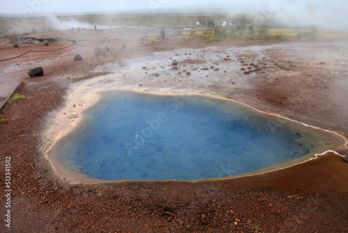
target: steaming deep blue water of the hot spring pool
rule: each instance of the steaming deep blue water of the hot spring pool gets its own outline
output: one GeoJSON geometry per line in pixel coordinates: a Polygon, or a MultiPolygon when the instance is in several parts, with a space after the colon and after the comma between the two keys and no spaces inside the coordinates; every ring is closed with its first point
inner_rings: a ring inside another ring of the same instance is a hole
{"type": "Polygon", "coordinates": [[[204,96],[107,91],[83,114],[61,157],[102,180],[231,176],[299,158],[315,146],[275,117],[204,96]]]}

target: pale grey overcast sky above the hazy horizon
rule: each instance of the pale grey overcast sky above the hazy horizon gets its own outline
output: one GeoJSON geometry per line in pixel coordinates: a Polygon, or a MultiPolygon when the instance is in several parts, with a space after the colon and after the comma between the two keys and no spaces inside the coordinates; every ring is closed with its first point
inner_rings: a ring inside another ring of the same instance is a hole
{"type": "MultiPolygon", "coordinates": [[[[296,20],[348,31],[347,0],[0,0],[0,14],[19,17],[52,13],[95,13],[221,8],[229,13],[270,14],[281,20],[296,20]],[[271,9],[271,10],[270,10],[271,9]]],[[[187,13],[187,11],[185,11],[187,13]]],[[[192,10],[194,13],[194,10],[192,10]]]]}

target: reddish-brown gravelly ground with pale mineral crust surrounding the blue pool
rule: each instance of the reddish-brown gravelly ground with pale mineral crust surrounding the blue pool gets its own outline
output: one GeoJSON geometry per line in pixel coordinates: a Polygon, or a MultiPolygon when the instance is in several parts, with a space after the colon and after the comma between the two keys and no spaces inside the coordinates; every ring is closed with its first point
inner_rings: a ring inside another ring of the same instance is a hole
{"type": "MultiPolygon", "coordinates": [[[[0,63],[0,96],[23,80],[19,93],[27,97],[7,105],[1,113],[6,121],[0,123],[0,151],[13,166],[14,232],[347,231],[348,166],[335,153],[286,170],[223,181],[70,186],[52,176],[42,156],[49,146],[42,132],[55,116],[65,120],[57,127],[77,123],[79,117],[70,117],[95,101],[88,93],[100,88],[222,96],[348,133],[347,43],[223,40],[207,46],[175,30],[168,31],[168,40],[161,40],[156,29],[134,30],[33,34],[63,43],[18,43],[19,49],[1,39],[0,59],[65,47],[72,40],[110,48],[104,57],[93,57],[95,46],[74,45],[0,63]],[[73,62],[77,53],[84,59],[73,62]],[[44,68],[45,76],[29,78],[28,70],[36,66],[44,68]]],[[[338,152],[347,153],[344,146],[338,152]]],[[[5,203],[1,197],[1,212],[5,203]]]]}

